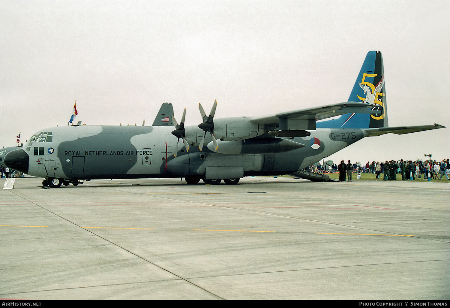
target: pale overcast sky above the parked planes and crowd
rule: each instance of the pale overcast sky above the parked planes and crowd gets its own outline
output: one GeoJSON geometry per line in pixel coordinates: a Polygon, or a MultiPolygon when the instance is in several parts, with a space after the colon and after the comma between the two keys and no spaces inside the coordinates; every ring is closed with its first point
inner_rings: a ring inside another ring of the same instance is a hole
{"type": "MultiPolygon", "coordinates": [[[[383,53],[389,126],[450,127],[449,1],[0,0],[0,147],[67,125],[186,125],[347,101],[383,53]]],[[[449,129],[369,137],[335,162],[450,157],[449,129]]],[[[175,137],[173,137],[175,138],[175,137]]]]}

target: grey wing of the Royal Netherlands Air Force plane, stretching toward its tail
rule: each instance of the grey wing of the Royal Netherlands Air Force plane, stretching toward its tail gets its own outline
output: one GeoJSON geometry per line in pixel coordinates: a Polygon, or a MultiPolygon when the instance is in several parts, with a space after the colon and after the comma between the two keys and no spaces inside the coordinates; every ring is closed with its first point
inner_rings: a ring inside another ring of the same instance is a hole
{"type": "Polygon", "coordinates": [[[382,112],[383,107],[380,105],[361,102],[344,102],[321,107],[294,110],[286,113],[277,113],[271,116],[255,117],[252,118],[251,121],[261,125],[279,124],[280,129],[314,130],[315,121],[318,120],[332,118],[345,113],[377,114],[382,112]]]}

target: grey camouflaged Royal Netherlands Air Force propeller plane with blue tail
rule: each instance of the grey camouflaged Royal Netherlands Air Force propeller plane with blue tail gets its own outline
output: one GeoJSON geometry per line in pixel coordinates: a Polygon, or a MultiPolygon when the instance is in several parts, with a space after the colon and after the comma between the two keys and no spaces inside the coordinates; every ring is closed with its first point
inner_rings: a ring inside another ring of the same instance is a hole
{"type": "Polygon", "coordinates": [[[347,102],[220,119],[214,118],[216,105],[207,116],[199,104],[198,126],[184,126],[185,110],[176,122],[172,105],[164,103],[152,126],[46,128],[24,149],[9,152],[4,163],[45,178],[42,184],[51,187],[91,179],[158,177],[184,177],[189,184],[200,179],[237,184],[245,176],[292,174],[367,136],[443,127],[388,127],[379,51],[367,54],[347,102]]]}

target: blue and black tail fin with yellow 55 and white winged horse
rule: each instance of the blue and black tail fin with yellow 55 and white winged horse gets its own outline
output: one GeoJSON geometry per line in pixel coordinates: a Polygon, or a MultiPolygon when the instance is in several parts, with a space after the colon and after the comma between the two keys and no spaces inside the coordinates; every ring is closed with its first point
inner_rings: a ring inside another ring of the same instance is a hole
{"type": "Polygon", "coordinates": [[[347,113],[337,119],[316,122],[323,128],[387,127],[386,91],[384,87],[383,57],[379,51],[369,51],[351,91],[349,102],[364,102],[383,106],[383,114],[347,113]]]}

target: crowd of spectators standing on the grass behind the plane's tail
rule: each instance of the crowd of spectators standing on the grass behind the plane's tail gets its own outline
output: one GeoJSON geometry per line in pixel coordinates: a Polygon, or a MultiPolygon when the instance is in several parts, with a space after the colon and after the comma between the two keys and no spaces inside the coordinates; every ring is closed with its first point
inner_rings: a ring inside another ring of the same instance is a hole
{"type": "Polygon", "coordinates": [[[427,160],[422,162],[420,160],[411,161],[411,160],[403,160],[399,161],[391,160],[383,162],[373,161],[372,163],[367,162],[365,166],[357,165],[356,163],[351,163],[350,160],[348,163],[344,163],[342,160],[339,165],[332,163],[331,165],[325,163],[322,166],[320,163],[317,166],[312,165],[309,168],[306,168],[311,172],[319,172],[319,173],[338,173],[339,172],[339,180],[345,181],[347,177],[347,181],[352,181],[352,173],[361,172],[361,173],[373,173],[377,179],[380,178],[382,174],[383,180],[385,181],[394,181],[397,179],[397,174],[401,174],[401,179],[404,180],[415,180],[416,178],[423,178],[425,180],[428,179],[428,174],[432,179],[442,180],[442,177],[446,177],[449,180],[449,176],[447,174],[447,170],[450,169],[449,159],[443,159],[442,161],[436,160],[427,160]],[[439,178],[438,178],[439,177],[439,178]]]}

